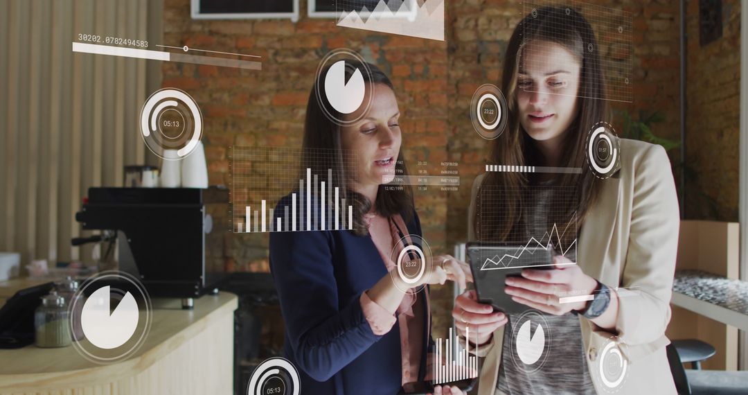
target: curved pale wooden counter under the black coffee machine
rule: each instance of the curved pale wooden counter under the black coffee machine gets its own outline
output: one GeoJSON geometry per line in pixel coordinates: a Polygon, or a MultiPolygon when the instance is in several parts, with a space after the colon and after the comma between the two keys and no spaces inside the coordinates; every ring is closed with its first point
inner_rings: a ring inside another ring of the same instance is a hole
{"type": "MultiPolygon", "coordinates": [[[[0,299],[22,285],[0,283],[0,299]]],[[[111,365],[94,364],[73,346],[0,349],[0,394],[232,394],[237,306],[232,293],[197,298],[193,310],[154,298],[143,346],[111,365]]]]}

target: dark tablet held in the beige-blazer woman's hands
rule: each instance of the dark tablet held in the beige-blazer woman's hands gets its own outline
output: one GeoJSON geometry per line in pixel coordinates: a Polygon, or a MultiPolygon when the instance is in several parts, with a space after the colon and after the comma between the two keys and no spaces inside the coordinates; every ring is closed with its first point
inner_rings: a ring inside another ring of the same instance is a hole
{"type": "Polygon", "coordinates": [[[468,265],[473,273],[478,301],[491,304],[504,313],[522,313],[530,307],[519,304],[504,293],[507,277],[521,276],[523,269],[553,269],[554,250],[536,245],[469,242],[468,265]]]}

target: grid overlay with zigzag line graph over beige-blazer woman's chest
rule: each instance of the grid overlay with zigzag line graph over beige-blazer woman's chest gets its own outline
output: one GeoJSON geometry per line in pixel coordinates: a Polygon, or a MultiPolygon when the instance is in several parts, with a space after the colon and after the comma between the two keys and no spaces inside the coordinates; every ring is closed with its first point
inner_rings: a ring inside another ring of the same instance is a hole
{"type": "MultiPolygon", "coordinates": [[[[477,197],[476,224],[480,230],[481,242],[499,241],[517,246],[512,254],[498,256],[486,250],[481,256],[481,270],[517,269],[518,262],[532,261],[536,251],[551,245],[554,254],[562,255],[575,264],[577,257],[576,211],[579,199],[574,187],[527,186],[524,189],[507,186],[481,186],[477,197]],[[505,218],[499,210],[515,199],[512,193],[519,194],[522,216],[515,231],[506,240],[496,240],[492,236],[504,225],[505,218]],[[529,255],[529,257],[528,257],[529,255]]],[[[541,254],[538,256],[540,257],[541,254]]],[[[536,265],[530,265],[536,266],[536,265]]]]}

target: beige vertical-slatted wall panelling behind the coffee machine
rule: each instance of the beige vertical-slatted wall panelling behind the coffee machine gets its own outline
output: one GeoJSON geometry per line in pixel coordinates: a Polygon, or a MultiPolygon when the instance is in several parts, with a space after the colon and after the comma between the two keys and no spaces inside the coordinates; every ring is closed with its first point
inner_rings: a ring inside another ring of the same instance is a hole
{"type": "MultiPolygon", "coordinates": [[[[138,134],[160,62],[73,53],[78,34],[161,42],[161,0],[0,1],[0,251],[91,260],[72,248],[91,186],[155,164],[138,134]]],[[[153,48],[152,48],[153,49],[153,48]]]]}

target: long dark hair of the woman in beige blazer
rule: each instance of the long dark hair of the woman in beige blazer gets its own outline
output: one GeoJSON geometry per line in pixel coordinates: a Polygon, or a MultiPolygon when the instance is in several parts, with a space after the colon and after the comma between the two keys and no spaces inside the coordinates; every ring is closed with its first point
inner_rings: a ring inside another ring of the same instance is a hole
{"type": "MultiPolygon", "coordinates": [[[[568,222],[576,212],[574,225],[579,229],[590,207],[598,197],[600,184],[595,174],[586,165],[584,154],[589,129],[600,121],[609,120],[605,102],[604,74],[598,56],[595,33],[589,22],[571,8],[542,7],[533,10],[517,25],[506,49],[502,91],[509,105],[508,123],[505,131],[493,141],[491,161],[500,165],[540,165],[542,157],[530,135],[524,131],[519,117],[517,102],[517,80],[524,46],[533,41],[558,43],[580,60],[580,86],[577,93],[577,114],[565,131],[562,141],[562,166],[582,168],[582,174],[564,174],[554,181],[554,186],[575,189],[578,203],[565,207],[554,206],[549,214],[551,221],[568,222]],[[595,49],[589,51],[588,49],[595,49]]],[[[484,209],[476,215],[474,231],[481,241],[507,241],[518,232],[516,226],[522,220],[523,197],[535,180],[532,174],[492,172],[485,175],[482,186],[494,186],[501,190],[503,198],[498,206],[484,209]],[[488,217],[486,217],[488,216],[488,217]],[[483,231],[484,234],[481,234],[483,231]]],[[[480,198],[480,197],[478,197],[480,198]]],[[[567,200],[568,201],[568,200],[567,200]]],[[[568,235],[568,237],[576,237],[568,235]]]]}

